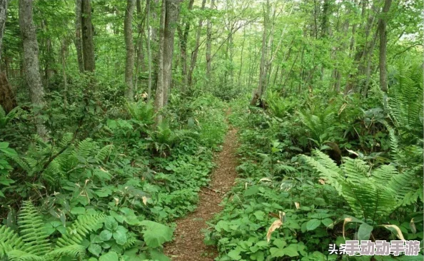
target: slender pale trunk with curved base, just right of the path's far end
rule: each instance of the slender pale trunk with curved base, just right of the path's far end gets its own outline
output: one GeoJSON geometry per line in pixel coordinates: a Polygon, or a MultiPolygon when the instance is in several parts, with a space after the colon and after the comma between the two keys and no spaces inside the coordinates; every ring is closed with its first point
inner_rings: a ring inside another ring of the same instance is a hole
{"type": "Polygon", "coordinates": [[[261,49],[261,64],[259,66],[259,81],[258,88],[254,91],[251,99],[251,106],[256,105],[256,101],[262,98],[264,83],[266,82],[266,33],[268,26],[268,16],[269,16],[269,0],[266,1],[266,7],[263,10],[263,32],[262,32],[262,49],[261,49]]]}

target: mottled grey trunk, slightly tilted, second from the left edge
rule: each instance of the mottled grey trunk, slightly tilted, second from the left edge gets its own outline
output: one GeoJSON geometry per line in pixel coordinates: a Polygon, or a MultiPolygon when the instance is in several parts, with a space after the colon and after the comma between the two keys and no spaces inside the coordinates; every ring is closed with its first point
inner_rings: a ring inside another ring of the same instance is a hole
{"type": "MultiPolygon", "coordinates": [[[[39,44],[36,39],[36,29],[32,19],[33,0],[19,0],[19,28],[21,29],[22,44],[24,46],[24,70],[26,83],[29,86],[31,103],[36,107],[45,106],[44,88],[39,71],[39,44]]],[[[36,115],[36,130],[41,138],[46,138],[47,130],[43,120],[36,115]]]]}

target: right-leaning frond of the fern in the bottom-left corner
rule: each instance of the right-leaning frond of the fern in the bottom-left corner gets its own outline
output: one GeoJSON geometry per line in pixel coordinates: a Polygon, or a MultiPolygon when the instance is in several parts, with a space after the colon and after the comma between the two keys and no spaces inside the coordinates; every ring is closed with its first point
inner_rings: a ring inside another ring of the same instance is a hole
{"type": "Polygon", "coordinates": [[[57,247],[67,247],[69,245],[80,245],[84,237],[93,231],[101,222],[105,215],[80,215],[66,233],[57,240],[57,247]]]}

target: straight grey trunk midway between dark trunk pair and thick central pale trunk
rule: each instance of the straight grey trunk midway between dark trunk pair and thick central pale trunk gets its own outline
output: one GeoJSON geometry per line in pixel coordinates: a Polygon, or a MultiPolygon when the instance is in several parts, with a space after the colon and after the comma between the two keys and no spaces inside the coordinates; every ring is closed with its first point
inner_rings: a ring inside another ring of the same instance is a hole
{"type": "Polygon", "coordinates": [[[134,45],[133,45],[133,12],[136,0],[127,0],[125,19],[123,21],[123,34],[125,38],[126,58],[125,58],[125,84],[126,100],[133,101],[133,70],[134,70],[134,45]]]}

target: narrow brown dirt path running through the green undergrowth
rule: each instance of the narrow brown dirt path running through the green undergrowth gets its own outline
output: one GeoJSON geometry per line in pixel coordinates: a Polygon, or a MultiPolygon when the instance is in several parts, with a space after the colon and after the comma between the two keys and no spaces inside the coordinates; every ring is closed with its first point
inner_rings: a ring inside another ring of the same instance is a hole
{"type": "MultiPolygon", "coordinates": [[[[227,115],[229,114],[229,110],[227,115]]],[[[165,245],[164,252],[173,261],[213,261],[218,255],[216,247],[203,243],[203,232],[206,221],[223,208],[219,205],[223,195],[231,190],[236,179],[237,130],[230,126],[223,142],[223,150],[218,153],[215,163],[218,165],[211,174],[209,187],[202,188],[199,193],[198,208],[185,218],[176,220],[175,240],[165,245]]]]}

